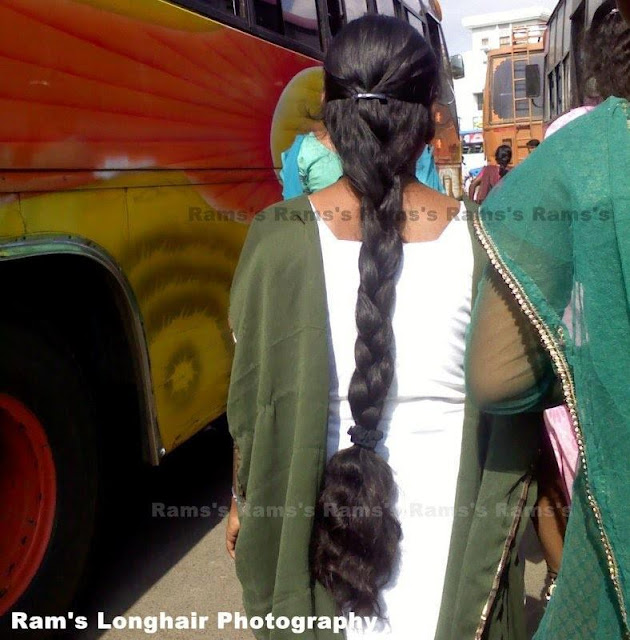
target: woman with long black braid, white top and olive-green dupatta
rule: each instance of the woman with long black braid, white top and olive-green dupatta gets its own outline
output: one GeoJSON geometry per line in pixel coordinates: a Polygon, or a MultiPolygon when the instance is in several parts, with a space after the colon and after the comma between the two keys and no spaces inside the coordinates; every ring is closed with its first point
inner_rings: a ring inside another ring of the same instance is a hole
{"type": "MultiPolygon", "coordinates": [[[[485,566],[467,591],[462,541],[449,563],[455,516],[471,517],[480,483],[482,501],[498,492],[502,507],[516,506],[538,430],[519,429],[503,485],[475,468],[456,495],[463,433],[462,460],[483,464],[494,449],[477,446],[479,415],[464,394],[481,270],[474,234],[459,202],[414,176],[435,133],[436,58],[408,23],[366,16],[335,38],[324,71],[324,124],[343,177],[259,214],[232,288],[227,545],[245,610],[375,616],[369,630],[346,630],[366,640],[461,640],[482,619],[524,638],[522,589],[508,598],[507,582],[493,584],[494,562],[518,583],[515,555],[504,552],[512,521],[486,519],[492,555],[476,554],[485,566]],[[455,617],[468,591],[474,605],[455,617]],[[482,611],[488,594],[496,612],[482,611]]],[[[294,637],[271,624],[257,637],[294,637]]],[[[339,635],[316,627],[301,637],[339,635]]]]}

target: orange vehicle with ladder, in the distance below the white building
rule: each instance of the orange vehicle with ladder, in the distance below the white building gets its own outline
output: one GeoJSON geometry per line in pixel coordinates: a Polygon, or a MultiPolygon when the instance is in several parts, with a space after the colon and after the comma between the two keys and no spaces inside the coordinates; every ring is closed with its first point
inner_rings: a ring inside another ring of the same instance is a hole
{"type": "Polygon", "coordinates": [[[527,76],[544,68],[544,25],[514,29],[512,43],[488,53],[483,133],[488,162],[503,144],[512,147],[514,164],[524,160],[527,143],[543,138],[542,98],[528,97],[527,76]],[[529,71],[528,71],[529,68],[529,71]]]}

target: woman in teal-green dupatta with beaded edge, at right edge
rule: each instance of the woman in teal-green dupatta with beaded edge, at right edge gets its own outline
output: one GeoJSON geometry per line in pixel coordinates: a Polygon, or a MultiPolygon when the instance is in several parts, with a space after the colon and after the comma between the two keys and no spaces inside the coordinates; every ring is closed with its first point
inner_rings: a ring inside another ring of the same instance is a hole
{"type": "Polygon", "coordinates": [[[604,3],[587,38],[605,102],[545,141],[475,221],[493,268],[473,313],[468,392],[502,415],[564,401],[580,452],[537,640],[630,637],[629,4],[604,3]]]}

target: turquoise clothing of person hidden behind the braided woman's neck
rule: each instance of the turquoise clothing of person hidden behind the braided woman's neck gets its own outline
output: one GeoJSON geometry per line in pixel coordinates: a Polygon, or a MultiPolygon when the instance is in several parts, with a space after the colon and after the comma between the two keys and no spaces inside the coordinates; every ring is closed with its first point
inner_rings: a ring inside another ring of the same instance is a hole
{"type": "MultiPolygon", "coordinates": [[[[325,147],[314,133],[298,135],[282,154],[280,182],[285,200],[310,195],[329,187],[341,178],[343,168],[339,156],[325,147]]],[[[423,184],[446,193],[440,180],[433,147],[427,145],[416,165],[416,178],[423,184]]]]}

